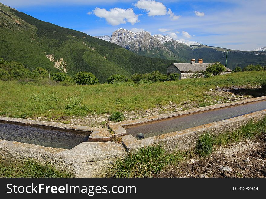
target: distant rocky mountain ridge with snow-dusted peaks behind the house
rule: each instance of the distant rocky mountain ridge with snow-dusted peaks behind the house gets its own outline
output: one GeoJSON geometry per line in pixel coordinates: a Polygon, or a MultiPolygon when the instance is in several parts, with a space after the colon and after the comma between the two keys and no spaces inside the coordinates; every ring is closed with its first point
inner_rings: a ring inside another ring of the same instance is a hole
{"type": "MultiPolygon", "coordinates": [[[[174,59],[190,63],[190,59],[202,58],[204,63],[221,61],[225,65],[225,48],[207,46],[195,41],[174,40],[169,35],[151,35],[149,32],[133,32],[120,28],[112,33],[111,43],[133,51],[138,55],[174,59]]],[[[263,50],[263,49],[262,49],[263,50]]],[[[266,51],[229,50],[227,66],[234,69],[237,66],[261,64],[266,65],[266,51]]]]}

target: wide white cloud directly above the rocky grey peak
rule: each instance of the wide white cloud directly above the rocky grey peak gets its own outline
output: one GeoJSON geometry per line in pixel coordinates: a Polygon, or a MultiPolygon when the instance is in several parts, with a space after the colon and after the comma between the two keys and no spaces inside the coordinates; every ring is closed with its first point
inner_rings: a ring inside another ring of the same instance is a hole
{"type": "Polygon", "coordinates": [[[126,22],[129,22],[133,25],[139,22],[139,15],[136,15],[132,8],[112,8],[110,11],[107,11],[104,8],[95,8],[93,13],[97,17],[105,18],[106,21],[111,25],[125,24],[126,22]]]}

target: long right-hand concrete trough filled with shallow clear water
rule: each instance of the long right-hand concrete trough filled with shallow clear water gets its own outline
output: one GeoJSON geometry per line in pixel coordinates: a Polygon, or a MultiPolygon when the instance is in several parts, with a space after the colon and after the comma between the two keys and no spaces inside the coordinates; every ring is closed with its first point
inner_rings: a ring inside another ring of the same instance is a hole
{"type": "Polygon", "coordinates": [[[232,131],[251,118],[266,114],[266,96],[216,104],[168,114],[161,114],[109,124],[116,136],[122,136],[127,151],[164,142],[165,148],[191,149],[205,131],[232,131]],[[139,136],[143,134],[143,136],[139,136]]]}

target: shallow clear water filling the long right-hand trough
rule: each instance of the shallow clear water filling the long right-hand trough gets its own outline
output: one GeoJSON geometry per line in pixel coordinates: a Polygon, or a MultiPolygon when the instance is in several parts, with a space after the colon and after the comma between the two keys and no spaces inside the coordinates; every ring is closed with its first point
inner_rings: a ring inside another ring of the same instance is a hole
{"type": "Polygon", "coordinates": [[[128,134],[131,134],[136,139],[140,140],[165,133],[181,131],[187,128],[209,124],[264,109],[266,109],[265,100],[188,114],[184,116],[176,116],[133,126],[125,126],[124,128],[128,134]],[[140,136],[140,134],[143,134],[143,136],[140,136]]]}

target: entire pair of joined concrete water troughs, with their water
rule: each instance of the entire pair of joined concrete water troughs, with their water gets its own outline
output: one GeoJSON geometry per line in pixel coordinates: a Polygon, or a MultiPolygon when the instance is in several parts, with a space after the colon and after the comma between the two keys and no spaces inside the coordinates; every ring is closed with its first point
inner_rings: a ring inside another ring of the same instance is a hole
{"type": "Polygon", "coordinates": [[[112,123],[109,129],[0,117],[0,160],[31,158],[76,177],[104,177],[128,151],[158,142],[169,151],[187,150],[206,131],[233,131],[265,114],[266,96],[112,123]],[[121,143],[112,141],[120,136],[121,143]]]}

